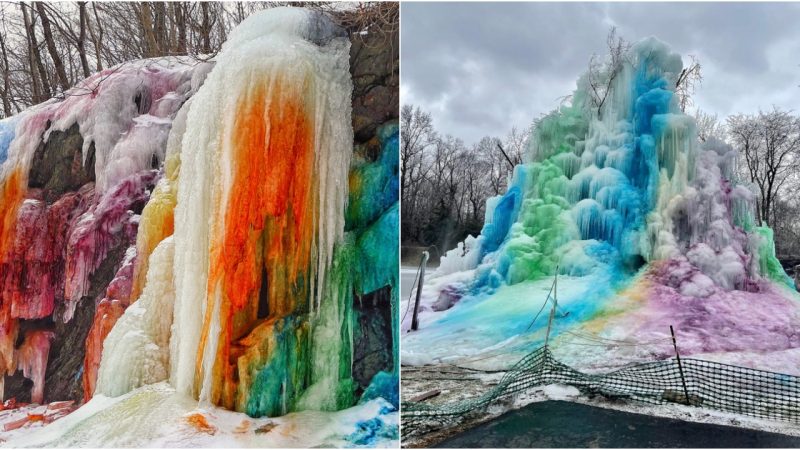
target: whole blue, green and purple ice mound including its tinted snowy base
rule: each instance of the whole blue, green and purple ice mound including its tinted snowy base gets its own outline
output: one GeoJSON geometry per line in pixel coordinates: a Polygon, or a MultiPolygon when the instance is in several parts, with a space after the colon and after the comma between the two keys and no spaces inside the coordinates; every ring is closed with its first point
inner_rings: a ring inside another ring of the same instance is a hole
{"type": "Polygon", "coordinates": [[[422,330],[404,335],[404,362],[518,357],[541,345],[547,314],[531,321],[556,272],[553,345],[578,365],[668,357],[670,325],[687,355],[800,347],[799,298],[772,232],[755,223],[753,195],[735,180],[735,151],[700,144],[681,113],[681,70],[679,55],[645,39],[600,111],[584,76],[571,104],[538,121],[528,162],[488,200],[480,236],[442,258],[422,330]],[[442,296],[455,306],[436,312],[442,296]]]}

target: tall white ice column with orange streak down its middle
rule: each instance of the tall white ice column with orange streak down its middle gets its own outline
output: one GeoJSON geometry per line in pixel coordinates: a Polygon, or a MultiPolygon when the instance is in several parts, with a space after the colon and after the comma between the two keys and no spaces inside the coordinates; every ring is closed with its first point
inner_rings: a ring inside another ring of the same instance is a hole
{"type": "Polygon", "coordinates": [[[285,413],[303,385],[310,324],[296,313],[323,301],[353,141],[349,41],[326,21],[250,17],[188,112],[171,363],[178,392],[201,401],[244,410],[250,380],[272,372],[261,395],[282,404],[264,409],[285,413]]]}

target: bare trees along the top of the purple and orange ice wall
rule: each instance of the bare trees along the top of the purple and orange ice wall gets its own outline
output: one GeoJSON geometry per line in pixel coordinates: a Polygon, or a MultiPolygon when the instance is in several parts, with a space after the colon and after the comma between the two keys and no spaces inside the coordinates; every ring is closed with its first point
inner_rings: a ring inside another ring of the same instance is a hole
{"type": "MultiPolygon", "coordinates": [[[[184,55],[208,60],[250,14],[287,3],[0,2],[2,115],[70,95],[66,92],[92,71],[132,60],[184,55]]],[[[352,39],[364,31],[371,38],[396,36],[398,29],[399,8],[393,3],[302,6],[329,13],[352,39]]]]}

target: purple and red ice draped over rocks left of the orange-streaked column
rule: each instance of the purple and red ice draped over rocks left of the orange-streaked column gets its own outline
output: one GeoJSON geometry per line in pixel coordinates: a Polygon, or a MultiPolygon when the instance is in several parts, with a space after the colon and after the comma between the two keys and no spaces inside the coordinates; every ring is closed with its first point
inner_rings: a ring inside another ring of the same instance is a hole
{"type": "Polygon", "coordinates": [[[34,402],[52,341],[82,341],[81,324],[60,324],[136,236],[192,73],[177,59],[127,63],[0,122],[0,372],[32,379],[34,402]]]}

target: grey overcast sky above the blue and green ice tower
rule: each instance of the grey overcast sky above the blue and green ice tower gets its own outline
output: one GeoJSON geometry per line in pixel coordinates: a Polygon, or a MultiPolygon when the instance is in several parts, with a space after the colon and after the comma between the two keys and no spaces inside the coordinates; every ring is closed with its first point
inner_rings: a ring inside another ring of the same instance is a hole
{"type": "Polygon", "coordinates": [[[467,144],[504,136],[570,94],[611,26],[695,55],[695,106],[720,118],[800,113],[800,4],[402,3],[401,100],[467,144]]]}

